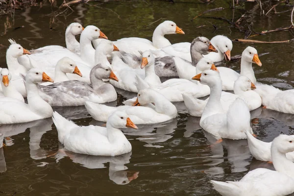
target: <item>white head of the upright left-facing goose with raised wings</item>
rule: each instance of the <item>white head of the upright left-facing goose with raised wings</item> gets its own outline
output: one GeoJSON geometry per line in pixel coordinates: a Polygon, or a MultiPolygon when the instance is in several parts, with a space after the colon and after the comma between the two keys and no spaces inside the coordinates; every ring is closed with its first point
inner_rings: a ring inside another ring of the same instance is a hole
{"type": "Polygon", "coordinates": [[[216,83],[221,83],[220,73],[214,70],[205,70],[192,77],[192,79],[198,80],[201,84],[206,84],[210,87],[214,86],[216,83]]]}

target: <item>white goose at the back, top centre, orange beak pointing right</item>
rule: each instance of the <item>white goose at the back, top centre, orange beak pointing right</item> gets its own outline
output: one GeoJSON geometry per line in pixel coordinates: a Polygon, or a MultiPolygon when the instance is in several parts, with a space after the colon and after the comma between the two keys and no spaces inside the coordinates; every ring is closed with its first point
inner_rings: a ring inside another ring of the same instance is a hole
{"type": "MultiPolygon", "coordinates": [[[[124,52],[133,53],[137,56],[140,56],[141,54],[139,51],[161,49],[163,47],[172,45],[171,42],[164,37],[164,35],[176,33],[185,34],[184,31],[180,29],[174,22],[165,21],[155,28],[152,42],[144,38],[129,37],[117,40],[113,43],[124,52]]],[[[95,48],[98,46],[98,42],[99,41],[93,42],[95,48]]]]}

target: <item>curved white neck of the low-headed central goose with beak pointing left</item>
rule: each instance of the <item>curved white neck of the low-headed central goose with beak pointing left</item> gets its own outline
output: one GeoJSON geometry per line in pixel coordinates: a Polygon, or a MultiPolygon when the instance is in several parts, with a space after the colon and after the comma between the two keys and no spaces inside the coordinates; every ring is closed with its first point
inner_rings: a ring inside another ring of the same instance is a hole
{"type": "Polygon", "coordinates": [[[154,103],[156,112],[171,116],[173,118],[176,117],[176,107],[163,95],[152,94],[150,96],[150,101],[154,103]]]}

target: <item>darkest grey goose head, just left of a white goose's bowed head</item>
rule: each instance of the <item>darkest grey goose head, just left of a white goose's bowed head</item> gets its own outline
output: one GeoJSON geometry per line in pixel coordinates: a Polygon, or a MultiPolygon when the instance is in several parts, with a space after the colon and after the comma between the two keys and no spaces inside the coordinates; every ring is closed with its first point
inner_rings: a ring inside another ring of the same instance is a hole
{"type": "Polygon", "coordinates": [[[206,37],[196,37],[191,43],[190,50],[192,54],[197,51],[204,55],[209,52],[218,52],[206,37]]]}

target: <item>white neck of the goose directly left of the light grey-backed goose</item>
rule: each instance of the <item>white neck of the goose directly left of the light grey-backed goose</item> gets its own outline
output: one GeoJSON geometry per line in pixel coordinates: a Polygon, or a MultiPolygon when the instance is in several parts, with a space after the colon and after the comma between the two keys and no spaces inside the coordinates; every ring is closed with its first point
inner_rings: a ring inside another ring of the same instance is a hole
{"type": "Polygon", "coordinates": [[[53,114],[52,107],[40,97],[37,84],[27,81],[25,87],[27,92],[27,103],[30,110],[44,118],[51,117],[53,114]]]}

